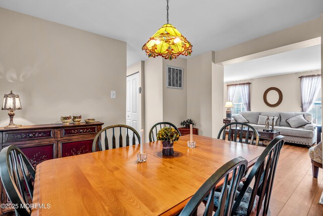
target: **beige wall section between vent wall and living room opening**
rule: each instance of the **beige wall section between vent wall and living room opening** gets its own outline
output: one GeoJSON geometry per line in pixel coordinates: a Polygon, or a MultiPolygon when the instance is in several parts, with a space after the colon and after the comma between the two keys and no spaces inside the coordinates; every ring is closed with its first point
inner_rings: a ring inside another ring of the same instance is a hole
{"type": "Polygon", "coordinates": [[[212,136],[212,57],[207,52],[187,59],[187,117],[207,137],[212,136]]]}

